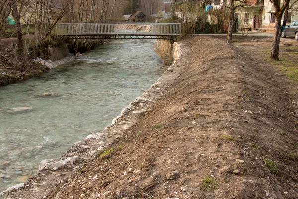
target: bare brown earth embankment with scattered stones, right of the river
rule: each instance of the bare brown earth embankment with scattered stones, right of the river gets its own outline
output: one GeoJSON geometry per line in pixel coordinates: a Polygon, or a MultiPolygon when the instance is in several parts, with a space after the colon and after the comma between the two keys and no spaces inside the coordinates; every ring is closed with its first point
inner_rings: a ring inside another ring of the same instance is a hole
{"type": "Polygon", "coordinates": [[[83,162],[2,198],[297,198],[297,85],[264,60],[271,39],[234,40],[183,41],[116,123],[65,155],[83,162]]]}

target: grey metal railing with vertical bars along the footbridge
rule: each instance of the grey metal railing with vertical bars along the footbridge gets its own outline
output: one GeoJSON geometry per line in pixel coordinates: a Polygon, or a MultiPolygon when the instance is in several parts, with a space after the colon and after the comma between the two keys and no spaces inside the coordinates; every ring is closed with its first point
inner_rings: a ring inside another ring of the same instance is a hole
{"type": "Polygon", "coordinates": [[[53,31],[60,35],[178,35],[179,23],[60,23],[53,31]]]}

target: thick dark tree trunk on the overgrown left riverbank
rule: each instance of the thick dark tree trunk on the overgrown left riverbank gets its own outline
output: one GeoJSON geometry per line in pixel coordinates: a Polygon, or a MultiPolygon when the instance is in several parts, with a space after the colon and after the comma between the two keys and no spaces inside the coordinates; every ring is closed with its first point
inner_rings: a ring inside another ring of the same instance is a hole
{"type": "Polygon", "coordinates": [[[10,5],[11,5],[11,14],[15,20],[15,26],[16,26],[16,36],[18,40],[17,54],[19,58],[22,58],[24,53],[23,33],[22,33],[22,26],[20,22],[20,19],[21,19],[20,12],[22,10],[22,6],[20,6],[19,8],[20,10],[18,10],[15,0],[11,0],[10,5]]]}

